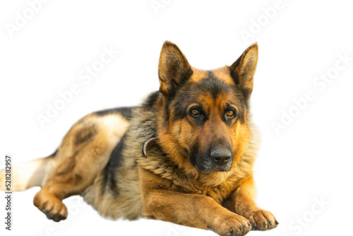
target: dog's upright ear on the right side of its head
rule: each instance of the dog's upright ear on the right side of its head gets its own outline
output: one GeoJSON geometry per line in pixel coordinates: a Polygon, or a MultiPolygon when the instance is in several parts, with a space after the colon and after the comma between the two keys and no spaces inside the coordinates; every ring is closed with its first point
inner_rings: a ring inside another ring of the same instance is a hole
{"type": "Polygon", "coordinates": [[[249,98],[253,90],[253,75],[258,63],[258,44],[254,43],[248,47],[245,52],[229,66],[230,74],[235,83],[244,91],[246,99],[249,98]]]}

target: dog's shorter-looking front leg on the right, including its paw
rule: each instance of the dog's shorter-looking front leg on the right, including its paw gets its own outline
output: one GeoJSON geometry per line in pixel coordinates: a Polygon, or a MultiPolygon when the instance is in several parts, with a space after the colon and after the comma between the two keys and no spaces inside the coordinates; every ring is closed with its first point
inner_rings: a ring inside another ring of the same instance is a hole
{"type": "Polygon", "coordinates": [[[241,179],[239,186],[223,203],[225,208],[251,222],[252,230],[272,230],[278,225],[275,216],[269,211],[259,208],[255,203],[255,186],[253,177],[249,175],[241,179]]]}

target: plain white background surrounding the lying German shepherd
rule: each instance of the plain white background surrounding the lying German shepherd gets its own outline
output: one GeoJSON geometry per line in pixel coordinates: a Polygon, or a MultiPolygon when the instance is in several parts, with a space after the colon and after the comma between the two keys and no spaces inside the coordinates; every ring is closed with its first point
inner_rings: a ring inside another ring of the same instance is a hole
{"type": "MultiPolygon", "coordinates": [[[[155,11],[150,0],[52,0],[11,37],[6,25],[16,25],[16,13],[23,16],[29,5],[1,1],[0,167],[6,153],[13,155],[15,164],[49,155],[85,114],[142,102],[158,89],[157,63],[164,40],[175,42],[199,69],[232,64],[257,41],[251,99],[262,134],[254,167],[257,201],[280,225],[249,235],[349,234],[353,61],[336,70],[325,88],[313,84],[317,76],[334,73],[336,63],[345,65],[337,62],[339,54],[353,57],[349,1],[283,0],[271,18],[263,8],[273,7],[275,0],[157,2],[163,8],[155,11]],[[263,21],[256,32],[253,22],[258,20],[263,21]],[[241,32],[251,30],[251,38],[244,40],[241,32]],[[90,83],[83,83],[78,74],[100,59],[103,47],[119,54],[90,83]],[[45,115],[47,103],[53,105],[58,93],[74,83],[80,93],[42,128],[37,114],[45,115]],[[315,99],[276,134],[273,122],[280,122],[282,111],[295,114],[293,100],[309,90],[315,99]]],[[[38,190],[13,194],[11,232],[4,230],[5,202],[0,196],[1,235],[215,235],[156,220],[107,220],[80,197],[64,201],[70,211],[66,223],[53,223],[32,205],[38,190]]]]}

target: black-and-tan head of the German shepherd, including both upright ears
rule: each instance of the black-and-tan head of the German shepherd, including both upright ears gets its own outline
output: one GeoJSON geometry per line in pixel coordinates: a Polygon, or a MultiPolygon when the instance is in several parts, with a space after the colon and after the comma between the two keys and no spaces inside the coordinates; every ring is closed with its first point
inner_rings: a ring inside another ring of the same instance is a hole
{"type": "Polygon", "coordinates": [[[177,45],[164,42],[157,136],[175,163],[190,172],[228,172],[244,155],[257,60],[254,44],[232,66],[203,71],[191,67],[177,45]]]}

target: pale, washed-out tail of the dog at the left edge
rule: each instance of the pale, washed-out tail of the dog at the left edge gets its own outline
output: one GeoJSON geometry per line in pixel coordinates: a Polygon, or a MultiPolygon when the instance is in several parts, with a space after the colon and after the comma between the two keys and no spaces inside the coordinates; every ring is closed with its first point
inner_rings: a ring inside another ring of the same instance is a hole
{"type": "Polygon", "coordinates": [[[0,190],[23,191],[35,186],[42,187],[46,177],[48,161],[52,158],[54,158],[54,154],[49,155],[47,158],[13,165],[11,166],[11,175],[8,175],[8,168],[0,170],[0,190]],[[8,184],[11,186],[10,189],[7,189],[7,187],[10,187],[8,184]]]}

